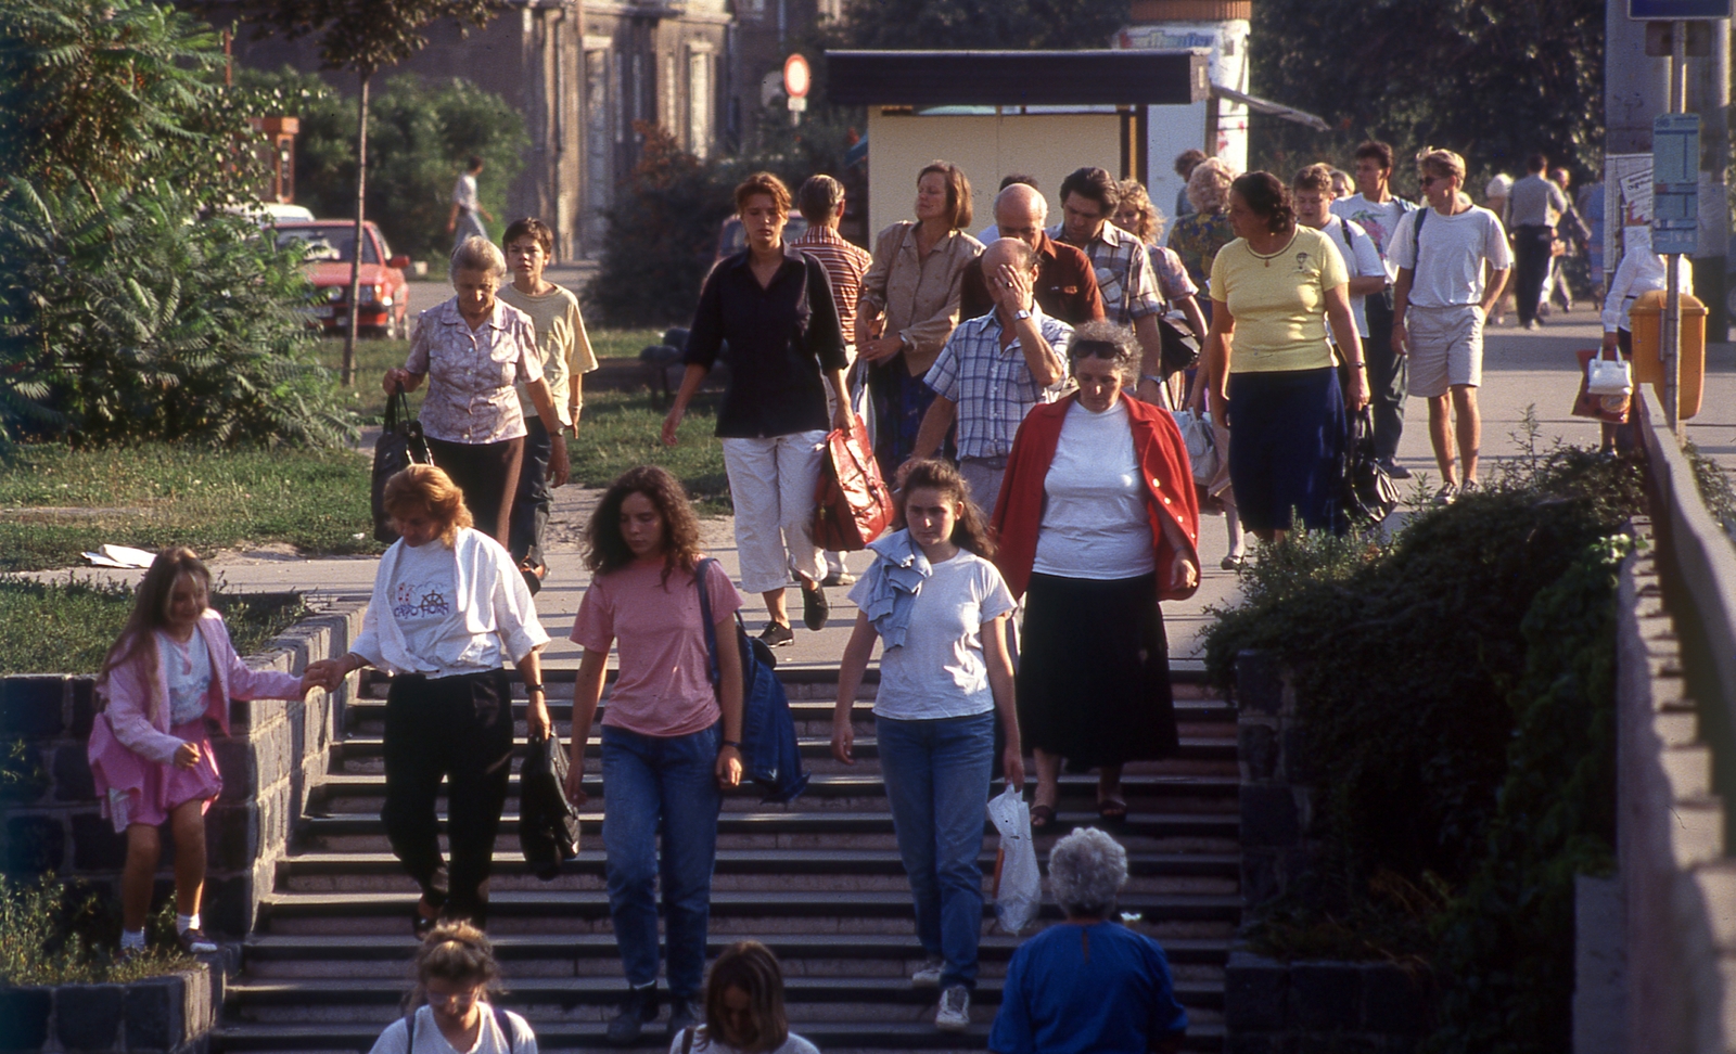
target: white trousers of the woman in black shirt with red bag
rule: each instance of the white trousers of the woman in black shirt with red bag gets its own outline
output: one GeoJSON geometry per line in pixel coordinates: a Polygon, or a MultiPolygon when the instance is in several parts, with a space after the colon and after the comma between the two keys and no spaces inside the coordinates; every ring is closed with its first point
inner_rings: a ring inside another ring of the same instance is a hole
{"type": "Polygon", "coordinates": [[[783,589],[792,572],[826,577],[812,536],[825,442],[825,432],[724,440],[745,591],[783,589]]]}

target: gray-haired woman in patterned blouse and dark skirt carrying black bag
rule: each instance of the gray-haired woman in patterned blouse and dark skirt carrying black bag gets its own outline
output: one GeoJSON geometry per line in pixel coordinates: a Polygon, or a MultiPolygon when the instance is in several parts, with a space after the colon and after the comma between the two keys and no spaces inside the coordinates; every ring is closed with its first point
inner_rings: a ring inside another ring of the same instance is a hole
{"type": "Polygon", "coordinates": [[[561,418],[542,374],[536,328],[531,317],[495,298],[507,274],[500,248],[486,237],[465,237],[451,251],[457,296],[417,319],[410,357],[387,369],[382,387],[415,392],[429,378],[422,400],[422,430],[434,465],[464,491],[476,525],[507,544],[512,496],[524,461],[524,413],[516,385],[524,383],[536,418],[554,437],[549,472],[556,487],[566,484],[566,440],[561,418]]]}

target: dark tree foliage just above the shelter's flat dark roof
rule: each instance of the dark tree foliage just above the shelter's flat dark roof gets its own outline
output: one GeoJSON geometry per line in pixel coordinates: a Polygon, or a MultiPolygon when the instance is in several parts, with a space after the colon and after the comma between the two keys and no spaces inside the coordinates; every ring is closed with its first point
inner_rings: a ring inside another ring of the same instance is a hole
{"type": "Polygon", "coordinates": [[[861,49],[1087,49],[1127,17],[1128,0],[851,0],[840,35],[861,49]]]}

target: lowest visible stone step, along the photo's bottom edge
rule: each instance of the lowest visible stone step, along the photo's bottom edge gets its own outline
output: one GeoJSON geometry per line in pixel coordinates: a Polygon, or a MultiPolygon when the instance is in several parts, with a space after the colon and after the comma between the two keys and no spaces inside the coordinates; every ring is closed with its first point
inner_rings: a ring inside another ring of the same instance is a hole
{"type": "MultiPolygon", "coordinates": [[[[512,1005],[510,1000],[505,1000],[512,1005]]],[[[1217,1016],[1198,1014],[1187,1028],[1186,1051],[1222,1051],[1224,1025],[1217,1016]]],[[[795,1031],[826,1054],[891,1054],[892,1051],[983,1051],[988,1047],[988,1014],[977,1018],[969,1031],[936,1031],[930,1021],[877,1021],[830,1023],[800,1021],[792,1014],[795,1031]]],[[[536,1049],[554,1052],[599,1051],[611,1044],[601,1023],[531,1021],[536,1030],[536,1049]]],[[[226,1025],[210,1033],[214,1054],[227,1051],[292,1052],[351,1052],[368,1051],[380,1035],[380,1023],[345,1021],[333,1025],[226,1025]]],[[[661,1026],[646,1028],[632,1049],[668,1051],[670,1037],[661,1026]]]]}

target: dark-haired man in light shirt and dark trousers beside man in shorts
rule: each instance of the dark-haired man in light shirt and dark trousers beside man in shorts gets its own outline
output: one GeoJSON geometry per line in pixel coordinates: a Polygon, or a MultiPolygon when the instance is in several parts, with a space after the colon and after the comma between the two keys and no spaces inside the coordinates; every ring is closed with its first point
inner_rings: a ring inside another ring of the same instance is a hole
{"type": "MultiPolygon", "coordinates": [[[[1368,406],[1375,420],[1375,456],[1396,480],[1408,480],[1410,470],[1396,461],[1399,437],[1404,435],[1404,397],[1410,378],[1404,355],[1392,352],[1392,283],[1399,277],[1392,262],[1392,232],[1404,213],[1415,205],[1396,198],[1391,189],[1392,147],[1368,140],[1356,147],[1356,194],[1332,203],[1332,215],[1349,220],[1368,232],[1385,265],[1387,281],[1378,293],[1363,298],[1368,335],[1363,338],[1363,357],[1368,361],[1368,406]]],[[[1349,260],[1345,260],[1349,264],[1349,260]]]]}

